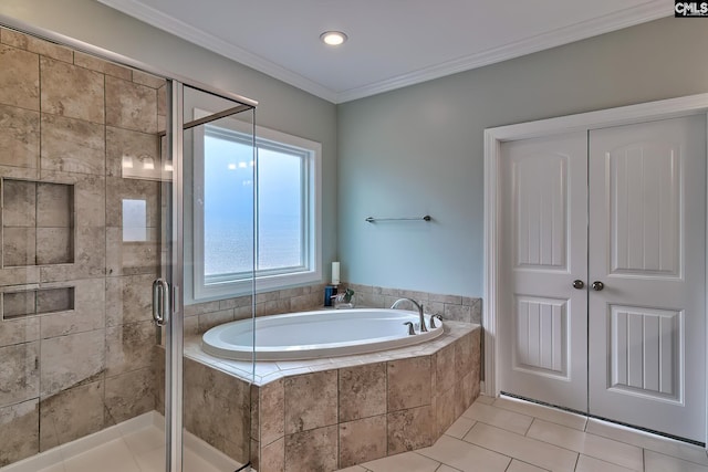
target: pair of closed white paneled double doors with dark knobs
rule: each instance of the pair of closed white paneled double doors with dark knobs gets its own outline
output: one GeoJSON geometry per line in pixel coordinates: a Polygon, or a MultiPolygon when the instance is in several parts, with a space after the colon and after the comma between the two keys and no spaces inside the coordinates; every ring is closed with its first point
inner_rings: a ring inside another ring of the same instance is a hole
{"type": "Polygon", "coordinates": [[[501,153],[500,389],[705,442],[705,116],[501,153]]]}

